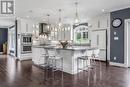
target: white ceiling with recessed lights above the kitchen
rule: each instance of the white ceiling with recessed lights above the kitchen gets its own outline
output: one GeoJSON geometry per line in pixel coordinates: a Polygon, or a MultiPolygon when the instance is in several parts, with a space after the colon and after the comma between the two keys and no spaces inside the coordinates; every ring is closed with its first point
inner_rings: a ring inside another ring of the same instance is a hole
{"type": "MultiPolygon", "coordinates": [[[[62,9],[62,21],[72,22],[75,16],[75,5],[77,0],[15,0],[16,15],[18,17],[27,17],[46,21],[46,14],[50,14],[50,21],[58,21],[58,9],[62,9]]],[[[83,21],[99,15],[102,9],[105,12],[111,12],[119,9],[128,8],[130,0],[78,0],[79,18],[83,21]]]]}

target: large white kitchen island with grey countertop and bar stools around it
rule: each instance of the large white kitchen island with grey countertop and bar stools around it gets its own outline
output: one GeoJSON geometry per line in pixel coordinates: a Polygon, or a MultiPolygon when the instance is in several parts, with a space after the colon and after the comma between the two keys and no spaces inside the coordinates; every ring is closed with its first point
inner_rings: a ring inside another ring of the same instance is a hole
{"type": "MultiPolygon", "coordinates": [[[[47,49],[56,49],[57,53],[63,57],[63,71],[69,74],[76,74],[77,71],[77,58],[83,54],[87,49],[91,49],[90,46],[72,46],[66,49],[54,47],[54,46],[33,46],[33,62],[34,64],[44,64],[45,58],[42,56],[42,52],[47,49]]],[[[88,64],[89,61],[88,61],[88,64]]],[[[58,67],[59,64],[57,64],[58,67]]],[[[79,64],[83,66],[82,61],[79,64]]]]}

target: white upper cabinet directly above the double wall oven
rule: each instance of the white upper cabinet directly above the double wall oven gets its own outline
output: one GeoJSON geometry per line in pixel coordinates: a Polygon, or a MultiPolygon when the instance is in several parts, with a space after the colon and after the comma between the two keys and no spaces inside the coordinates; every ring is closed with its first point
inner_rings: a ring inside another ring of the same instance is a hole
{"type": "Polygon", "coordinates": [[[18,33],[33,33],[33,24],[34,22],[31,20],[20,19],[17,22],[18,24],[18,33]]]}

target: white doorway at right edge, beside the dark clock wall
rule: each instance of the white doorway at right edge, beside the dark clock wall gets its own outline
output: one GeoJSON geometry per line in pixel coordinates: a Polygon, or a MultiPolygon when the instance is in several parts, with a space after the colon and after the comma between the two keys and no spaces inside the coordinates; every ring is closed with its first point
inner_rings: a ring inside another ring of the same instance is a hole
{"type": "Polygon", "coordinates": [[[125,20],[125,50],[124,61],[127,67],[130,67],[130,19],[125,20]]]}

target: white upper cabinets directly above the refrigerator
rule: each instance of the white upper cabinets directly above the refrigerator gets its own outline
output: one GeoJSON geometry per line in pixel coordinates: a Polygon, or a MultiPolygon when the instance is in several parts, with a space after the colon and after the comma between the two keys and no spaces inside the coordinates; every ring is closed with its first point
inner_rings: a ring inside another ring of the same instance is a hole
{"type": "Polygon", "coordinates": [[[89,23],[92,25],[91,28],[94,30],[110,28],[110,14],[103,14],[92,18],[89,23]]]}

